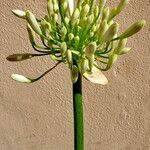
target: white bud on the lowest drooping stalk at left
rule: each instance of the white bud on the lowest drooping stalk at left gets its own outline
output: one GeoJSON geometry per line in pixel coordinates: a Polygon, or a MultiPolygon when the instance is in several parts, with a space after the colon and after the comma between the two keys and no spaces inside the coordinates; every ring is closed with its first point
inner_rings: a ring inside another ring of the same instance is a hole
{"type": "Polygon", "coordinates": [[[29,78],[26,78],[26,77],[19,75],[19,74],[12,74],[11,78],[14,79],[15,81],[19,81],[22,83],[31,83],[32,82],[29,78]]]}

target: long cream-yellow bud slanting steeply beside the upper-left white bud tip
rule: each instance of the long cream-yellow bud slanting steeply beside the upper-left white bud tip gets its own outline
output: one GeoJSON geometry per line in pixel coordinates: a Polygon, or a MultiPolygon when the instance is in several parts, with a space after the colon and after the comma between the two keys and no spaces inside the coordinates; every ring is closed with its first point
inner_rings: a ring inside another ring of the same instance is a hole
{"type": "Polygon", "coordinates": [[[26,12],[27,14],[27,19],[28,19],[28,23],[30,24],[30,26],[32,27],[32,29],[39,35],[42,34],[42,31],[41,31],[41,28],[35,18],[35,16],[30,12],[30,11],[27,11],[26,12]]]}

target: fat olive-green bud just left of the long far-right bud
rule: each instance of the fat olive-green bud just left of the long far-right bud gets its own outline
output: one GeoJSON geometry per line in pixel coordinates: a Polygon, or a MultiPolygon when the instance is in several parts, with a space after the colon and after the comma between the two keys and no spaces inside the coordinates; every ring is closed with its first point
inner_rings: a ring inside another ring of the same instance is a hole
{"type": "Polygon", "coordinates": [[[112,24],[104,34],[102,42],[111,41],[113,37],[117,34],[118,29],[119,29],[119,24],[117,23],[112,24]]]}

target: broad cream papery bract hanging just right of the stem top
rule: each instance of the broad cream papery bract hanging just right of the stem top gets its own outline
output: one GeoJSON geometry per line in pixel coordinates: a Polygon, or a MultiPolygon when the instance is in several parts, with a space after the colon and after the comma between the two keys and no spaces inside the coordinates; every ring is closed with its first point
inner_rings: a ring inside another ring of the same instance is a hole
{"type": "Polygon", "coordinates": [[[84,77],[92,83],[106,85],[108,83],[105,75],[95,66],[93,66],[92,73],[86,72],[83,74],[84,77]]]}

